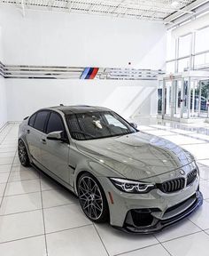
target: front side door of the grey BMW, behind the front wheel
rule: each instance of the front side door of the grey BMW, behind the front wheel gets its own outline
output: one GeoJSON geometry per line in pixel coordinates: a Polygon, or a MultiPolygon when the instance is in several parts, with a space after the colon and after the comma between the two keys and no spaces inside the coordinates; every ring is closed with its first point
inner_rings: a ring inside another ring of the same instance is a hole
{"type": "Polygon", "coordinates": [[[50,132],[63,131],[66,136],[66,128],[62,117],[54,111],[51,111],[46,133],[43,135],[44,141],[42,147],[42,163],[50,172],[57,175],[59,179],[69,182],[69,144],[58,140],[47,140],[47,134],[50,132]]]}

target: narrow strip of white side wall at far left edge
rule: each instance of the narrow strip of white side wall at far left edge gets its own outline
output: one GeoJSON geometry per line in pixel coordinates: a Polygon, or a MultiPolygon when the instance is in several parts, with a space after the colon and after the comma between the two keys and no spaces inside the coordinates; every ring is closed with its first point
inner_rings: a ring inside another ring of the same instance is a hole
{"type": "MultiPolygon", "coordinates": [[[[0,27],[0,60],[4,61],[4,52],[2,47],[2,28],[0,27]]],[[[4,77],[0,76],[0,128],[7,122],[6,110],[6,92],[4,77]]]]}

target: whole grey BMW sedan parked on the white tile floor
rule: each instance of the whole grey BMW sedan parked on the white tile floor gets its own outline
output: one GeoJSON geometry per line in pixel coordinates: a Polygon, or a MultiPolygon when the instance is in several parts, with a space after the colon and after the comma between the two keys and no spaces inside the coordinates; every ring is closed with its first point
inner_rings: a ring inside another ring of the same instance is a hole
{"type": "Polygon", "coordinates": [[[194,157],[107,108],[38,110],[19,125],[18,151],[21,164],[73,191],[95,222],[151,233],[202,204],[194,157]]]}

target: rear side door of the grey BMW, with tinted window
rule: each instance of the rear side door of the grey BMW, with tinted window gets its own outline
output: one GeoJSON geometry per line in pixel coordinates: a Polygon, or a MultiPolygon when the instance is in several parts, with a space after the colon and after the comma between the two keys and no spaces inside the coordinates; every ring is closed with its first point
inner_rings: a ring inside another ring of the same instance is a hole
{"type": "Polygon", "coordinates": [[[38,111],[30,117],[27,125],[27,145],[30,151],[30,155],[39,164],[42,164],[42,137],[44,134],[43,132],[46,120],[49,115],[49,110],[38,111]]]}

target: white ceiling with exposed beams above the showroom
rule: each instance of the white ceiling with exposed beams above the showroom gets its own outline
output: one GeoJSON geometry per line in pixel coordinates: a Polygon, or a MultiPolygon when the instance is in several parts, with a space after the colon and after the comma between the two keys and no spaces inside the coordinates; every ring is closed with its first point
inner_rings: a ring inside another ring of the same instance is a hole
{"type": "MultiPolygon", "coordinates": [[[[192,13],[192,0],[0,0],[3,4],[15,4],[25,10],[44,9],[48,11],[97,14],[120,18],[135,18],[163,22],[173,13],[192,13]]],[[[203,2],[203,1],[201,1],[203,2]]]]}

